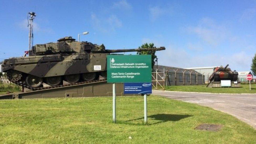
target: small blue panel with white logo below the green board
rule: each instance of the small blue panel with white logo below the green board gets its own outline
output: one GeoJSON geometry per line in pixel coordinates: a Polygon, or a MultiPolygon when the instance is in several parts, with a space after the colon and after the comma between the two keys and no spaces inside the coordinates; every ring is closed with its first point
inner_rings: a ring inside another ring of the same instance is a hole
{"type": "Polygon", "coordinates": [[[151,83],[124,83],[124,94],[151,94],[151,83]]]}

